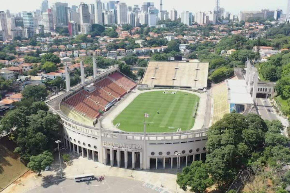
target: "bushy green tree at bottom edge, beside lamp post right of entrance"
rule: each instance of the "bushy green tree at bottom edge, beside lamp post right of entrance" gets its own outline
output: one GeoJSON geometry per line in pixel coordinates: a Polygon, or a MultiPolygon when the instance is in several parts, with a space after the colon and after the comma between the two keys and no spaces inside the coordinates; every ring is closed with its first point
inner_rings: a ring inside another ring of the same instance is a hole
{"type": "Polygon", "coordinates": [[[193,161],[190,166],[183,168],[182,173],[177,174],[177,184],[182,190],[202,193],[206,188],[213,185],[209,176],[209,170],[202,161],[193,161]]]}

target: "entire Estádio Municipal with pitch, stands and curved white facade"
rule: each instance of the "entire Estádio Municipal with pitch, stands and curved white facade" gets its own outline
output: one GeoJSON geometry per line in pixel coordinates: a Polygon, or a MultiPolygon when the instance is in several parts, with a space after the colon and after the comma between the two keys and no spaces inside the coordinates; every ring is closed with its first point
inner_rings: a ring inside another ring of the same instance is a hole
{"type": "Polygon", "coordinates": [[[81,63],[81,84],[72,88],[66,67],[66,92],[47,104],[61,117],[64,146],[105,165],[165,169],[204,161],[208,127],[253,104],[249,83],[238,76],[207,90],[209,63],[150,61],[139,84],[117,68],[97,74],[93,63],[93,78],[85,81],[81,63]]]}

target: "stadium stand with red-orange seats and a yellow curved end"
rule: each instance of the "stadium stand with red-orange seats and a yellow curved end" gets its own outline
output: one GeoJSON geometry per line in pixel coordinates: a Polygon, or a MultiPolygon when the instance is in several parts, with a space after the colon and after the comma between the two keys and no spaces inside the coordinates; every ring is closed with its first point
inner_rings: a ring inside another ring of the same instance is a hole
{"type": "Polygon", "coordinates": [[[84,124],[93,124],[115,101],[134,89],[137,84],[122,73],[115,72],[93,84],[92,92],[81,90],[61,105],[65,115],[84,124]]]}

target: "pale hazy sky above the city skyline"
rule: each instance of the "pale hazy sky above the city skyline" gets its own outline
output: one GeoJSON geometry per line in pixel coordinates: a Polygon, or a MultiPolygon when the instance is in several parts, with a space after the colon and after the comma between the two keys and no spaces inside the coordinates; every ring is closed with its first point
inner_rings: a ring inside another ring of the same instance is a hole
{"type": "MultiPolygon", "coordinates": [[[[32,11],[39,9],[42,0],[0,0],[0,10],[10,10],[11,13],[17,13],[21,11],[32,11]]],[[[79,5],[80,2],[93,3],[94,0],[48,0],[49,6],[56,1],[66,2],[69,6],[79,5]]],[[[109,0],[101,0],[102,2],[108,2],[109,0]]],[[[127,3],[127,6],[133,6],[134,4],[143,4],[143,2],[154,2],[156,8],[159,9],[160,0],[120,0],[127,3]]],[[[215,0],[163,0],[163,9],[171,10],[175,8],[180,14],[182,11],[207,11],[213,10],[215,0]]],[[[238,14],[241,10],[261,10],[267,8],[276,10],[280,8],[283,12],[286,12],[287,0],[220,0],[221,7],[226,11],[238,14]]]]}

